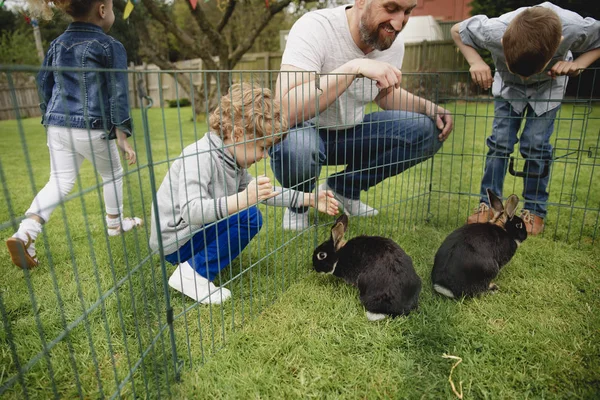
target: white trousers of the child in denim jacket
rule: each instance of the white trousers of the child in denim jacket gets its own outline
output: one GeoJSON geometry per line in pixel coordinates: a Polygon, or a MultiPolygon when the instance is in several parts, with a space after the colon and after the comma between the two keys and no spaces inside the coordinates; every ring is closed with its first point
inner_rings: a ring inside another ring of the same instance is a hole
{"type": "Polygon", "coordinates": [[[35,196],[25,215],[48,221],[54,209],[69,194],[84,159],[90,160],[102,177],[107,214],[123,212],[123,167],[115,140],[106,140],[103,130],[49,126],[50,180],[35,196]]]}

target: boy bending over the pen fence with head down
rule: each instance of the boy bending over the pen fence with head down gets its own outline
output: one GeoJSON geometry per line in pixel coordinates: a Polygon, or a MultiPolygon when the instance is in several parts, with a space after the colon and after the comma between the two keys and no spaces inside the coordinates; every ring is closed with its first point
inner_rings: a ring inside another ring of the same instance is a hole
{"type": "Polygon", "coordinates": [[[550,136],[569,76],[600,58],[600,22],[546,2],[488,18],[476,15],[452,27],[452,37],[469,62],[471,77],[496,98],[492,135],[481,182],[481,204],[467,222],[487,222],[486,189],[502,195],[508,157],[517,142],[525,158],[521,218],[532,235],[544,229],[548,203],[550,136]],[[491,52],[496,73],[476,50],[491,52]],[[573,59],[573,54],[582,53],[573,59]],[[492,85],[493,83],[493,85],[492,85]],[[523,132],[517,137],[524,122],[523,132]]]}

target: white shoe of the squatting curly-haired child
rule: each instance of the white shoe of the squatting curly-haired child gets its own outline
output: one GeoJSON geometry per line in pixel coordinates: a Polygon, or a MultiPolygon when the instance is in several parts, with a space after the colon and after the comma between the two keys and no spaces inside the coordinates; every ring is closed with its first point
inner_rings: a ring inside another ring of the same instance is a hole
{"type": "Polygon", "coordinates": [[[215,286],[187,262],[177,266],[169,278],[169,286],[202,304],[221,304],[231,297],[228,289],[215,286]]]}

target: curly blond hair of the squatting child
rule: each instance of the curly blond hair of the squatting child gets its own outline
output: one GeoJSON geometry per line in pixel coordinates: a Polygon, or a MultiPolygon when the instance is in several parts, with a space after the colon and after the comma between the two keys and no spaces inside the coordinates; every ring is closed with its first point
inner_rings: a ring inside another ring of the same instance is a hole
{"type": "Polygon", "coordinates": [[[271,90],[249,83],[229,88],[211,113],[209,125],[223,140],[232,135],[244,139],[269,137],[271,145],[280,142],[288,130],[287,119],[271,90]]]}

